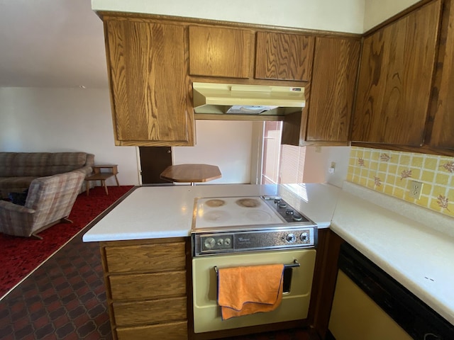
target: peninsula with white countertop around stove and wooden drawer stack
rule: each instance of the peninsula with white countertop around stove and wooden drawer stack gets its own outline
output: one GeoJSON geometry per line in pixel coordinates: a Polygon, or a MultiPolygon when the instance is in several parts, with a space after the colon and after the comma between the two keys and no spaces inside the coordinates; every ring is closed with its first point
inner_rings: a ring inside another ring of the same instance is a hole
{"type": "Polygon", "coordinates": [[[114,339],[192,336],[189,235],[195,198],[279,196],[296,210],[311,212],[309,218],[328,231],[339,188],[307,184],[295,190],[299,195],[275,185],[135,188],[83,237],[100,242],[114,339]]]}

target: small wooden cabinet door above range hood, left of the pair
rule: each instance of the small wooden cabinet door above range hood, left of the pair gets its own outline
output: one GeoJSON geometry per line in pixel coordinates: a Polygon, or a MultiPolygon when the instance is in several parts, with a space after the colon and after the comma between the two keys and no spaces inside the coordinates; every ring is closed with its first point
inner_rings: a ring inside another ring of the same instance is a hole
{"type": "Polygon", "coordinates": [[[250,78],[252,40],[250,30],[189,26],[189,74],[250,78]]]}

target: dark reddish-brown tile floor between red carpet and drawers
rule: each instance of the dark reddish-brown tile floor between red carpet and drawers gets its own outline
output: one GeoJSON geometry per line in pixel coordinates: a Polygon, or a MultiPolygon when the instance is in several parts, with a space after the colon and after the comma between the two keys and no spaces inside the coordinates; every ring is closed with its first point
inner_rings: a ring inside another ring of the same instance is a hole
{"type": "MultiPolygon", "coordinates": [[[[0,339],[112,339],[99,245],[83,243],[83,234],[79,232],[0,300],[0,339]]],[[[306,340],[309,336],[292,330],[239,339],[306,340]]]]}

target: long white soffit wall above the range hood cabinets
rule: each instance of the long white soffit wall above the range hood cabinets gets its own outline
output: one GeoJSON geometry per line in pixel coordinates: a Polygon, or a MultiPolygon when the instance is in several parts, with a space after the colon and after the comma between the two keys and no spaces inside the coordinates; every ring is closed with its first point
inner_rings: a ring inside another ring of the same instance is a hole
{"type": "MultiPolygon", "coordinates": [[[[365,0],[92,0],[96,11],[155,13],[362,33],[365,0]]],[[[377,1],[382,2],[382,1],[377,1]]]]}

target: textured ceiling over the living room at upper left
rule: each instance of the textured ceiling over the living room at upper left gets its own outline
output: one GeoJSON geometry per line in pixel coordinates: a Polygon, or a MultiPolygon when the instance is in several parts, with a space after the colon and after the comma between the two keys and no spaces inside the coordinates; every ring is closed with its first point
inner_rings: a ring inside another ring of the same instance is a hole
{"type": "Polygon", "coordinates": [[[0,87],[107,87],[90,0],[0,0],[0,87]]]}

